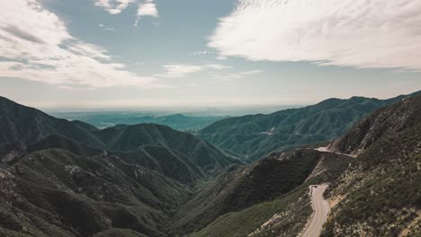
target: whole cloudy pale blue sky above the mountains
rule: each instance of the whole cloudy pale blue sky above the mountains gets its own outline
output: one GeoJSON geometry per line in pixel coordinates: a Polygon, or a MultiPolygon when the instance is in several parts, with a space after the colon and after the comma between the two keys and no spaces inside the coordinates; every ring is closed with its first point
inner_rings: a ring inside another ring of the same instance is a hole
{"type": "Polygon", "coordinates": [[[0,95],[40,109],[285,106],[421,90],[421,1],[0,3],[0,95]]]}

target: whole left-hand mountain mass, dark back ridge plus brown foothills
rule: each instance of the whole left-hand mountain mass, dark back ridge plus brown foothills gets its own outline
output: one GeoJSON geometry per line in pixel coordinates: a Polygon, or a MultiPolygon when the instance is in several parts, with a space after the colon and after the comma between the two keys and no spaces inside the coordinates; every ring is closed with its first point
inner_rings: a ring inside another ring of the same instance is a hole
{"type": "Polygon", "coordinates": [[[0,236],[167,236],[194,182],[242,164],[154,124],[103,130],[0,98],[0,236]]]}

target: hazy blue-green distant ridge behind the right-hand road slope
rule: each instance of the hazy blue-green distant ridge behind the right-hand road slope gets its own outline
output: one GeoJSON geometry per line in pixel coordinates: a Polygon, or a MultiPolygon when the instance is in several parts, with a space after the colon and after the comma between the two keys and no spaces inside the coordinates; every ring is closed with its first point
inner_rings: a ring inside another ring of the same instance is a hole
{"type": "Polygon", "coordinates": [[[198,135],[255,161],[275,150],[336,139],[372,111],[402,98],[404,96],[390,100],[363,97],[329,99],[309,107],[281,110],[269,115],[223,119],[203,128],[198,135]]]}

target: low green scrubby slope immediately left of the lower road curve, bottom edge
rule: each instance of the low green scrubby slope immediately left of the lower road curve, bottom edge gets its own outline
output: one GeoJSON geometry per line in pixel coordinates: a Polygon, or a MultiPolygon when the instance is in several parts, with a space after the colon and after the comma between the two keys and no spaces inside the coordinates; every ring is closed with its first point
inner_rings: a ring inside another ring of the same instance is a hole
{"type": "Polygon", "coordinates": [[[296,236],[306,224],[308,216],[311,214],[308,188],[301,187],[286,197],[274,199],[250,206],[237,212],[230,212],[220,215],[218,219],[203,228],[197,233],[192,233],[191,237],[243,237],[254,233],[258,227],[271,219],[273,215],[279,218],[273,219],[270,228],[262,229],[261,232],[252,236],[268,236],[268,233],[276,236],[296,236]],[[291,213],[291,209],[294,213],[291,213]],[[287,218],[288,216],[288,218],[287,218]],[[273,234],[275,233],[275,234],[273,234]]]}

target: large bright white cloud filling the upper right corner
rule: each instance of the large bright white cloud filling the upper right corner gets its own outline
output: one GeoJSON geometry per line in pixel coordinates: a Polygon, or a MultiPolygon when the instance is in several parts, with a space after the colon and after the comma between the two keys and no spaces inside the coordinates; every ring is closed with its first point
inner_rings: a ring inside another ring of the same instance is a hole
{"type": "Polygon", "coordinates": [[[209,46],[222,57],[421,70],[421,1],[238,0],[209,46]]]}

